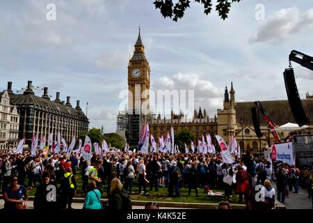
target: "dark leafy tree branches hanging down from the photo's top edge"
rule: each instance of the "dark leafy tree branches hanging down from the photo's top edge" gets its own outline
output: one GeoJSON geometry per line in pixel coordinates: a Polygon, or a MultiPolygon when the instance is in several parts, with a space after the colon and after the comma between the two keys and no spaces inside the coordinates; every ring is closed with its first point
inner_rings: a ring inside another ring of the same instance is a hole
{"type": "MultiPolygon", "coordinates": [[[[204,8],[204,14],[209,15],[213,8],[212,0],[194,0],[200,3],[204,8]]],[[[225,20],[230,13],[232,3],[242,0],[217,0],[215,10],[218,11],[218,16],[225,20]]],[[[155,8],[159,8],[164,18],[170,17],[177,22],[178,19],[184,17],[187,8],[190,8],[191,1],[189,0],[156,0],[154,1],[155,8]],[[175,1],[175,3],[173,3],[175,1]]]]}

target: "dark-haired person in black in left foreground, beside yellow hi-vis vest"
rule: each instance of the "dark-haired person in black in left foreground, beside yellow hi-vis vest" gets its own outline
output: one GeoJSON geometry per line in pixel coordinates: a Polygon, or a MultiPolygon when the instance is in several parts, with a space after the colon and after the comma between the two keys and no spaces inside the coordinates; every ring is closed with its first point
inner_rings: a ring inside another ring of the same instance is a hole
{"type": "Polygon", "coordinates": [[[47,171],[42,173],[42,183],[36,188],[33,208],[35,210],[61,209],[61,198],[58,187],[53,181],[51,181],[50,174],[47,171]],[[56,194],[53,194],[54,192],[56,194]]]}

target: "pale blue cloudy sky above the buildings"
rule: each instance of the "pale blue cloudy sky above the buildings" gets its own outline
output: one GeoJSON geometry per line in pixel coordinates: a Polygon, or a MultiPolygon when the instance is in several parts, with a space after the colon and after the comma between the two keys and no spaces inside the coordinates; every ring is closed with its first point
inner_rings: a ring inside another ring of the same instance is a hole
{"type": "MultiPolygon", "coordinates": [[[[9,81],[19,91],[32,80],[47,86],[52,99],[60,91],[73,106],[80,100],[84,112],[88,102],[90,128],[115,132],[139,25],[152,91],[193,90],[194,106],[211,118],[223,109],[231,82],[237,102],[287,100],[289,53],[313,56],[311,0],[243,0],[225,21],[214,10],[204,15],[192,1],[179,22],[164,19],[153,0],[1,1],[0,91],[9,81]],[[56,6],[55,21],[47,20],[49,3],[56,6]]],[[[305,98],[313,93],[313,71],[292,64],[305,98]]]]}

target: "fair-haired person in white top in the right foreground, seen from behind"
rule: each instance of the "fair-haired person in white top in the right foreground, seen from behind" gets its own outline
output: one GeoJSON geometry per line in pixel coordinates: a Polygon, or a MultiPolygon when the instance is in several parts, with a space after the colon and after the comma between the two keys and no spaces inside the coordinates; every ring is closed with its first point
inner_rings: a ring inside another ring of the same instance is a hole
{"type": "Polygon", "coordinates": [[[264,187],[261,189],[261,196],[264,197],[264,201],[261,200],[261,208],[263,210],[271,210],[275,208],[275,189],[272,187],[271,180],[266,179],[264,181],[264,187]]]}

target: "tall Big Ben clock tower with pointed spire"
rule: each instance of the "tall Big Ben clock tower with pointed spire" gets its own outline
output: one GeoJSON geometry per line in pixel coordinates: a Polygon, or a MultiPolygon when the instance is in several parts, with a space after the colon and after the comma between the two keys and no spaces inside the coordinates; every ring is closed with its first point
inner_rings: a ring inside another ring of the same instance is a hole
{"type": "Polygon", "coordinates": [[[134,55],[128,63],[128,129],[127,138],[136,146],[143,125],[149,114],[150,66],[145,58],[145,47],[141,40],[141,29],[134,47],[134,55]]]}

